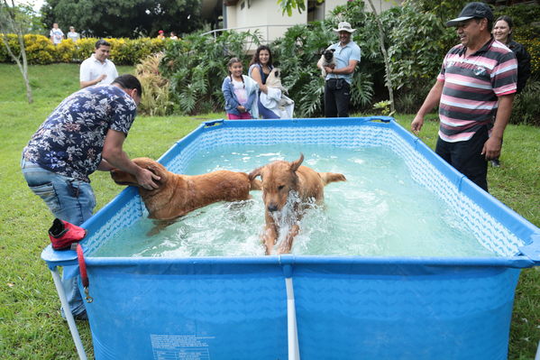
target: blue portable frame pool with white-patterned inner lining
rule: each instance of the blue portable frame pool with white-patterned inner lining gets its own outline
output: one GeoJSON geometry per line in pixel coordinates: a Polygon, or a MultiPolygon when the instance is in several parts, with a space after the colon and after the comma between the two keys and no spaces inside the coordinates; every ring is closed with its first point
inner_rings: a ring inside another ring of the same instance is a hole
{"type": "MultiPolygon", "coordinates": [[[[92,256],[146,216],[124,189],[83,225],[96,359],[507,358],[519,269],[540,263],[540,229],[393,119],[207,122],[160,162],[182,173],[203,150],[276,143],[390,149],[497,256],[92,256]]],[[[77,263],[50,246],[41,256],[50,269],[77,263]]]]}

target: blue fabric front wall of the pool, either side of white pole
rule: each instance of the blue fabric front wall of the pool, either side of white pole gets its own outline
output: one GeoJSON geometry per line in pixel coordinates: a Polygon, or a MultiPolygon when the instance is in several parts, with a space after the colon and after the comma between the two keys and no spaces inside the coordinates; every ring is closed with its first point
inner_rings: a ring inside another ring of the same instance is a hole
{"type": "MultiPolygon", "coordinates": [[[[287,358],[279,259],[159,260],[88,259],[97,359],[287,358]]],[[[318,260],[288,261],[301,358],[506,358],[517,269],[318,260]]]]}

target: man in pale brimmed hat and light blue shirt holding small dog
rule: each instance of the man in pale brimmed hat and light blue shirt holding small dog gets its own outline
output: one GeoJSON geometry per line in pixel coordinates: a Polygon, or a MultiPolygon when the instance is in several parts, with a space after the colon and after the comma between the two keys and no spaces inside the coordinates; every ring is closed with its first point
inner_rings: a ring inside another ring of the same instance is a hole
{"type": "Polygon", "coordinates": [[[360,62],[360,47],[352,42],[352,32],[355,31],[350,23],[339,23],[337,29],[334,29],[339,34],[339,42],[327,49],[334,49],[335,68],[324,67],[326,117],[349,116],[352,75],[360,62]]]}

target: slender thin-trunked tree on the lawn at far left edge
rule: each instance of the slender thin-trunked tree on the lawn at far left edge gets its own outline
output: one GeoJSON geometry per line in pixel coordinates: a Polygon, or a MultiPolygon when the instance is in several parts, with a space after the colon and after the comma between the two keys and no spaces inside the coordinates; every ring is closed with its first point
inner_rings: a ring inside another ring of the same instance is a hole
{"type": "Polygon", "coordinates": [[[23,75],[24,85],[26,86],[26,98],[28,103],[32,104],[32,87],[30,86],[30,80],[28,78],[28,61],[26,60],[26,51],[24,48],[24,29],[28,29],[30,26],[27,23],[29,19],[29,7],[25,5],[16,6],[14,0],[10,3],[7,0],[0,2],[0,37],[4,42],[5,48],[10,57],[17,63],[17,66],[21,70],[23,75]],[[19,43],[19,51],[14,50],[14,46],[8,42],[8,33],[15,33],[19,43]]]}

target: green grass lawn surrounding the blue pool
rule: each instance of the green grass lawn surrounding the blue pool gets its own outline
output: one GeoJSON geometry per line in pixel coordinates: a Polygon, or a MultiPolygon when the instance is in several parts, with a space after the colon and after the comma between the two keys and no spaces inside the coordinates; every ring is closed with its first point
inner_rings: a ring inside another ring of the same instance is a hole
{"type": "MultiPolygon", "coordinates": [[[[119,67],[119,73],[132,67],[119,67]]],[[[23,79],[14,65],[0,64],[0,359],[76,359],[67,323],[59,316],[59,300],[41,250],[49,244],[52,216],[23,180],[19,162],[24,145],[52,109],[78,89],[78,66],[32,66],[34,103],[26,102],[23,79]]],[[[158,158],[201,121],[223,117],[139,116],[125,142],[131,157],[158,158]]],[[[408,129],[412,115],[398,115],[408,129]]],[[[432,118],[435,119],[435,115],[432,118]]],[[[421,139],[432,148],[437,123],[427,122],[421,139]]],[[[540,226],[540,128],[508,126],[502,166],[489,172],[490,191],[510,208],[540,226]]],[[[91,176],[97,208],[122,188],[108,173],[91,176]]],[[[522,272],[517,285],[510,332],[509,359],[532,360],[540,340],[540,271],[522,272]]],[[[90,330],[78,322],[89,358],[90,330]]],[[[127,337],[126,337],[127,338],[127,337]]]]}

